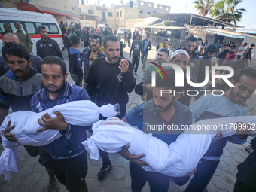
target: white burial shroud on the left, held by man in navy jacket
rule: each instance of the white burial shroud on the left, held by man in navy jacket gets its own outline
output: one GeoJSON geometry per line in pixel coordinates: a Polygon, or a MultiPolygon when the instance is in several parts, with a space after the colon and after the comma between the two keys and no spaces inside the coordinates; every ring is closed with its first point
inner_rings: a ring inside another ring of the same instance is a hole
{"type": "Polygon", "coordinates": [[[53,108],[38,114],[32,111],[14,112],[9,114],[5,117],[5,120],[0,127],[2,145],[5,148],[0,157],[0,174],[5,174],[5,180],[10,180],[13,172],[19,171],[16,162],[17,157],[19,157],[17,146],[44,146],[62,136],[59,133],[59,130],[36,132],[36,130],[42,128],[42,126],[38,124],[38,119],[41,119],[41,116],[45,113],[50,114],[51,117],[56,117],[56,114],[54,114],[53,111],[59,111],[63,115],[64,120],[69,124],[91,126],[99,120],[100,114],[104,117],[120,114],[120,106],[118,104],[108,104],[99,108],[91,101],[74,101],[56,105],[53,108]],[[11,126],[15,126],[14,130],[11,130],[11,133],[15,134],[20,144],[10,142],[5,138],[4,131],[10,120],[11,126]]]}

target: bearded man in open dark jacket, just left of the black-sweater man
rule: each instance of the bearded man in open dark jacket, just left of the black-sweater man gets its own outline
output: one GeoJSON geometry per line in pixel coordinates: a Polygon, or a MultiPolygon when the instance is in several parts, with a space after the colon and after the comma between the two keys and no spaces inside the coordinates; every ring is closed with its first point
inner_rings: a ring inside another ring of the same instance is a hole
{"type": "Polygon", "coordinates": [[[95,59],[105,56],[104,53],[99,49],[102,44],[102,37],[99,35],[93,35],[90,40],[90,50],[84,52],[84,75],[83,75],[83,87],[85,88],[85,80],[89,73],[90,67],[95,59]]]}

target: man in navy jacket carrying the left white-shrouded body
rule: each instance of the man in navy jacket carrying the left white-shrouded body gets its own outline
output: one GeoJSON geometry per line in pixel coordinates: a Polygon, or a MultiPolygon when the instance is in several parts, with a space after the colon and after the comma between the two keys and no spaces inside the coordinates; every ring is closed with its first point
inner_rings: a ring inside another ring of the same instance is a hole
{"type": "MultiPolygon", "coordinates": [[[[32,111],[41,112],[55,105],[76,100],[89,100],[87,91],[82,87],[66,81],[68,73],[66,64],[58,56],[47,56],[41,65],[44,88],[31,99],[32,111]]],[[[56,117],[44,114],[38,123],[44,126],[41,130],[59,130],[62,136],[44,146],[53,166],[56,178],[69,191],[88,191],[85,183],[87,175],[87,152],[81,144],[87,139],[86,127],[75,126],[64,121],[62,114],[55,112],[56,117]]]]}

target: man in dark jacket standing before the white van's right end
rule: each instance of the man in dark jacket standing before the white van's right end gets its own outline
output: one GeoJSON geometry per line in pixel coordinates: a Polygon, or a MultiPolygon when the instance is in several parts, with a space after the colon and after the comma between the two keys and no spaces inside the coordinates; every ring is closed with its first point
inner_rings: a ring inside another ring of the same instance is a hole
{"type": "Polygon", "coordinates": [[[59,44],[48,37],[45,26],[38,26],[41,39],[36,42],[36,54],[44,59],[46,56],[59,56],[63,59],[59,44]]]}

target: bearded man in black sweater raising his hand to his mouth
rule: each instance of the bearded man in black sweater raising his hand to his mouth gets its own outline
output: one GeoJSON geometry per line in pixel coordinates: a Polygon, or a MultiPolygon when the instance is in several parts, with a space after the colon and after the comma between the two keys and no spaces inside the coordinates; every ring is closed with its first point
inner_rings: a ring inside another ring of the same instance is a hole
{"type": "MultiPolygon", "coordinates": [[[[122,118],[126,114],[128,93],[133,91],[136,84],[133,77],[133,66],[126,59],[120,58],[120,44],[116,36],[105,37],[104,50],[106,56],[95,59],[90,67],[85,81],[86,90],[89,96],[98,90],[96,104],[99,107],[108,103],[118,103],[120,115],[117,117],[122,118]]],[[[103,163],[98,178],[103,178],[112,166],[108,153],[100,150],[100,155],[103,163]]]]}

